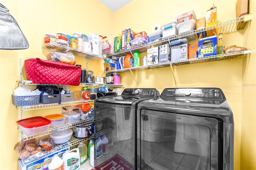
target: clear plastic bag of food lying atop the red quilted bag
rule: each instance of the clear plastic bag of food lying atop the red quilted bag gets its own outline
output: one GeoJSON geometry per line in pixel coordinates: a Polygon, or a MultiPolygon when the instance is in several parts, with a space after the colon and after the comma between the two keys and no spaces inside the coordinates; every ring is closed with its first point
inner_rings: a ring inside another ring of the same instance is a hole
{"type": "Polygon", "coordinates": [[[75,65],[76,60],[73,53],[52,51],[47,55],[47,60],[75,65]]]}

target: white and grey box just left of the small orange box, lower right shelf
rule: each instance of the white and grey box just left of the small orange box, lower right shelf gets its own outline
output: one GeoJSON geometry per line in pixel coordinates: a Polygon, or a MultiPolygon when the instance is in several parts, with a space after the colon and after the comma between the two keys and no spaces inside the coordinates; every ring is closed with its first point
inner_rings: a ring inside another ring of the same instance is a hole
{"type": "Polygon", "coordinates": [[[171,61],[188,59],[188,44],[171,46],[171,61]]]}

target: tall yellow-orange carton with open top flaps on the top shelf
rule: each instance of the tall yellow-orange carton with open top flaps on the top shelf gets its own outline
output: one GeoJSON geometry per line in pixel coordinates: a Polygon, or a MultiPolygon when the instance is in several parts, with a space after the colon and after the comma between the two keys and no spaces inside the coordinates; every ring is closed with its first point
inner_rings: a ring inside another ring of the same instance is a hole
{"type": "MultiPolygon", "coordinates": [[[[210,10],[206,11],[206,27],[215,25],[217,23],[217,7],[214,5],[210,10]]],[[[207,36],[214,36],[217,34],[216,28],[206,31],[207,36]]]]}

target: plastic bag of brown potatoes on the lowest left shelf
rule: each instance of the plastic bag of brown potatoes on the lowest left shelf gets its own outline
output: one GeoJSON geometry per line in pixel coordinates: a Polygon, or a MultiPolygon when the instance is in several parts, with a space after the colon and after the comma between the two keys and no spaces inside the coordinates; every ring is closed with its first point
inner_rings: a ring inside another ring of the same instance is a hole
{"type": "Polygon", "coordinates": [[[36,142],[36,139],[30,139],[30,140],[25,140],[21,144],[19,144],[15,150],[19,154],[20,159],[35,159],[35,158],[40,158],[44,154],[42,153],[42,148],[36,142]]]}

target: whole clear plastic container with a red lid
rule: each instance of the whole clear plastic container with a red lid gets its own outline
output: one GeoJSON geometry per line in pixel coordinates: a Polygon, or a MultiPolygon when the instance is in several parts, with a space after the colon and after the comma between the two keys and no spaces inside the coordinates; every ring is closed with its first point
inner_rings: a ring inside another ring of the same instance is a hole
{"type": "Polygon", "coordinates": [[[30,117],[17,121],[18,127],[26,134],[37,134],[49,129],[51,121],[44,117],[30,117]]]}

